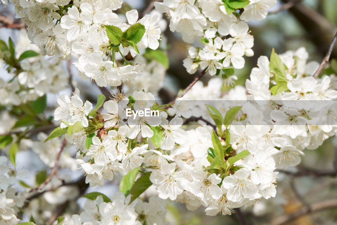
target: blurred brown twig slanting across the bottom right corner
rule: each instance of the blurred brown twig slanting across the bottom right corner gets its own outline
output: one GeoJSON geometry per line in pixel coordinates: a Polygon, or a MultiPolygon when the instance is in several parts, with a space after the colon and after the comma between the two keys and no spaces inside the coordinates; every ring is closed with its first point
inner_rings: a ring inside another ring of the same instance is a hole
{"type": "Polygon", "coordinates": [[[282,215],[276,218],[275,220],[273,220],[270,224],[271,225],[288,224],[288,222],[296,218],[299,218],[301,216],[307,215],[309,213],[315,213],[317,211],[321,211],[321,210],[328,209],[328,208],[335,208],[335,207],[337,207],[337,199],[313,203],[308,206],[300,208],[295,213],[282,215]]]}

